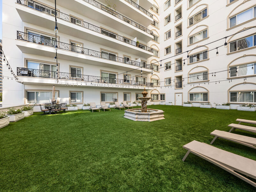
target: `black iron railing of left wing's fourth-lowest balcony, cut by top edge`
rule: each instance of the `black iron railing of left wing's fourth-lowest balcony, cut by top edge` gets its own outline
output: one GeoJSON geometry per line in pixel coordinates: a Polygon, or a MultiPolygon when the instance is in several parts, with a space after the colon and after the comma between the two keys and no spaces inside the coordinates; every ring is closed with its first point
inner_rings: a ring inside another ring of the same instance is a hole
{"type": "Polygon", "coordinates": [[[125,17],[124,15],[121,15],[120,13],[118,13],[118,12],[116,12],[116,11],[114,11],[114,10],[112,10],[112,9],[109,9],[108,7],[106,7],[106,6],[103,5],[103,4],[98,3],[97,1],[94,1],[94,0],[83,0],[83,1],[85,1],[86,3],[89,3],[89,4],[91,4],[91,5],[93,5],[93,6],[97,7],[97,8],[99,8],[99,9],[105,11],[105,12],[108,12],[109,14],[111,14],[111,15],[117,17],[118,19],[121,19],[121,20],[123,20],[123,21],[125,21],[125,22],[131,24],[132,26],[134,26],[134,27],[136,27],[136,28],[139,28],[139,29],[142,30],[142,31],[145,31],[146,33],[148,33],[148,34],[150,34],[150,35],[153,35],[153,31],[151,31],[151,30],[149,30],[149,29],[143,27],[142,25],[140,25],[139,23],[136,23],[136,22],[133,21],[133,20],[128,19],[127,17],[125,17]]]}

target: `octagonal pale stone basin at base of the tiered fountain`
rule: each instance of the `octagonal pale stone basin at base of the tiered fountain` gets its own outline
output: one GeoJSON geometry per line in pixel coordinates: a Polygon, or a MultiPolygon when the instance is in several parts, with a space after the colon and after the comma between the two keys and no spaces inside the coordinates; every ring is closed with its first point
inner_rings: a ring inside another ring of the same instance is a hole
{"type": "Polygon", "coordinates": [[[164,119],[164,111],[158,109],[148,109],[146,113],[142,113],[141,109],[127,109],[124,112],[124,118],[133,121],[157,121],[164,119]]]}

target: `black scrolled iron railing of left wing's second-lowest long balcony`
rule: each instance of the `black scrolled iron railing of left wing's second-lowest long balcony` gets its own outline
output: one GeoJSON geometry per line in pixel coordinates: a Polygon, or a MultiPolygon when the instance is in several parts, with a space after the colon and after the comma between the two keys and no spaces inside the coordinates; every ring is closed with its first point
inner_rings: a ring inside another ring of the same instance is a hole
{"type": "MultiPolygon", "coordinates": [[[[55,47],[55,45],[56,45],[55,40],[51,40],[50,38],[45,38],[42,36],[36,36],[33,34],[29,34],[29,33],[24,33],[21,31],[17,31],[17,39],[44,45],[44,46],[50,46],[50,47],[55,47]]],[[[120,63],[124,63],[124,64],[134,65],[137,67],[153,69],[153,65],[148,65],[148,64],[141,63],[138,61],[133,61],[133,60],[127,60],[122,57],[117,57],[115,55],[109,55],[109,54],[102,53],[99,51],[86,49],[84,47],[79,47],[79,46],[63,43],[60,41],[57,41],[57,46],[58,46],[58,49],[77,52],[77,53],[81,53],[81,54],[85,54],[85,55],[89,55],[89,56],[93,56],[93,57],[99,57],[102,59],[107,59],[107,60],[112,60],[112,61],[116,61],[116,62],[120,62],[120,63]]]]}

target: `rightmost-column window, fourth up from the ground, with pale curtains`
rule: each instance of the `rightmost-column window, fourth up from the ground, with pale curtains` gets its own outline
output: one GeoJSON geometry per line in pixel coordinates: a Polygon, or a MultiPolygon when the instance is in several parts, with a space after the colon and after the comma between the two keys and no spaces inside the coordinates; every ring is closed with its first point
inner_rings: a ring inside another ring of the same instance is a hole
{"type": "Polygon", "coordinates": [[[236,25],[239,25],[241,23],[244,23],[245,21],[251,20],[256,17],[256,6],[252,7],[244,12],[241,12],[234,17],[231,17],[229,19],[229,27],[234,27],[236,25]]]}

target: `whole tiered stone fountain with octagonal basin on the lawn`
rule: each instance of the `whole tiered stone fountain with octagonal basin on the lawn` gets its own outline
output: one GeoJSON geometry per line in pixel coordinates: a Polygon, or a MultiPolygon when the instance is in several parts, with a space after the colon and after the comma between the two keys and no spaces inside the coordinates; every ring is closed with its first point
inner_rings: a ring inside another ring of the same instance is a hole
{"type": "Polygon", "coordinates": [[[141,100],[141,109],[127,109],[124,111],[124,118],[131,119],[133,121],[156,121],[164,119],[164,111],[159,109],[148,109],[147,103],[151,97],[146,97],[145,86],[144,91],[141,93],[143,97],[139,97],[141,100]]]}

